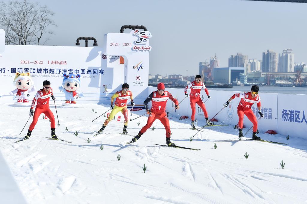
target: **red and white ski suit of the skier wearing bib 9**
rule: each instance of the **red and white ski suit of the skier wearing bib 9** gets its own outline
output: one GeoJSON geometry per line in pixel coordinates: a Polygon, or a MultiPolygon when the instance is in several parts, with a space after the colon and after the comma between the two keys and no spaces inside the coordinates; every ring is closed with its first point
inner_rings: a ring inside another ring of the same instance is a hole
{"type": "Polygon", "coordinates": [[[195,103],[200,106],[201,110],[204,112],[205,118],[208,117],[208,112],[206,110],[206,106],[203,103],[203,101],[200,99],[200,90],[204,89],[207,96],[209,95],[208,89],[205,87],[204,83],[196,83],[196,81],[190,82],[188,86],[185,87],[185,94],[187,93],[187,90],[191,89],[190,93],[190,105],[192,109],[192,115],[191,115],[191,120],[195,120],[195,113],[196,113],[196,108],[195,108],[195,103]]]}

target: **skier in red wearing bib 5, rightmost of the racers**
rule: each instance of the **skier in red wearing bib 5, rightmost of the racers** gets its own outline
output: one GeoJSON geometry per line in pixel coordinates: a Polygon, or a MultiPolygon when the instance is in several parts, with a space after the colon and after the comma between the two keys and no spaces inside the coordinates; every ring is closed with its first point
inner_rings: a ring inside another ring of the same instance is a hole
{"type": "Polygon", "coordinates": [[[258,122],[255,114],[251,110],[251,106],[255,103],[257,103],[258,107],[258,113],[261,117],[263,117],[263,114],[261,112],[261,103],[260,103],[260,96],[258,95],[259,87],[257,85],[254,85],[251,87],[251,92],[243,92],[239,94],[233,94],[231,98],[228,99],[226,103],[224,103],[224,107],[227,107],[229,105],[229,102],[231,102],[234,98],[241,98],[239,102],[239,106],[237,108],[238,110],[238,116],[239,116],[239,138],[243,137],[242,129],[243,129],[243,118],[244,114],[247,116],[247,118],[253,123],[253,140],[260,140],[260,137],[257,137],[257,128],[258,128],[258,122]]]}

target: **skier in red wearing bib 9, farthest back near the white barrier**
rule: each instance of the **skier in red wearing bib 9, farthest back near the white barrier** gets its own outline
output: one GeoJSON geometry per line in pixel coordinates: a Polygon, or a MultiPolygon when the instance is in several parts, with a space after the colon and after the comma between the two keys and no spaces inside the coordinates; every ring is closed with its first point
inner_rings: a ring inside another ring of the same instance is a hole
{"type": "Polygon", "coordinates": [[[195,108],[195,104],[197,104],[201,110],[203,110],[204,112],[204,116],[206,119],[206,123],[208,125],[213,125],[212,122],[209,122],[209,117],[208,117],[208,112],[206,110],[205,104],[203,103],[203,101],[200,98],[200,90],[204,89],[207,97],[211,98],[211,96],[209,95],[209,91],[208,89],[205,87],[204,83],[201,82],[201,76],[200,75],[196,75],[195,76],[195,81],[190,82],[188,84],[188,86],[185,87],[185,97],[189,97],[187,90],[191,89],[191,93],[190,93],[190,105],[191,105],[191,109],[192,109],[192,115],[191,115],[191,126],[193,129],[195,129],[195,125],[194,125],[194,121],[195,121],[195,113],[196,113],[196,108],[195,108]]]}

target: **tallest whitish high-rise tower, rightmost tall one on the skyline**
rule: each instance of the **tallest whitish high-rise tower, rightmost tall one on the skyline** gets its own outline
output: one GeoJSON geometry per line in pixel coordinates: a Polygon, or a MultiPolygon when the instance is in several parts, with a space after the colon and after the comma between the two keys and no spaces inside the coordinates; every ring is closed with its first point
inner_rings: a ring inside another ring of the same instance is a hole
{"type": "Polygon", "coordinates": [[[291,49],[285,49],[279,54],[278,72],[294,72],[294,54],[291,49]]]}

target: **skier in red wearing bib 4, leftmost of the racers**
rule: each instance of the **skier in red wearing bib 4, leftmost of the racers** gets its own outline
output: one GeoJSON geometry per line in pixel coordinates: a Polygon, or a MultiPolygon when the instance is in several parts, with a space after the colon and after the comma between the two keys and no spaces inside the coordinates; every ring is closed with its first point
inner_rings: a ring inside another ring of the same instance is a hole
{"type": "Polygon", "coordinates": [[[33,121],[28,129],[28,133],[25,136],[25,139],[29,139],[29,137],[31,136],[32,130],[34,129],[34,126],[36,125],[38,118],[42,113],[45,114],[51,122],[51,137],[54,139],[57,138],[55,133],[56,123],[54,121],[54,115],[49,108],[50,97],[52,98],[52,100],[55,100],[52,88],[50,87],[50,82],[45,80],[43,82],[43,88],[37,91],[36,95],[32,100],[29,116],[33,116],[33,121]],[[37,102],[37,104],[33,115],[33,108],[35,102],[37,102]]]}

